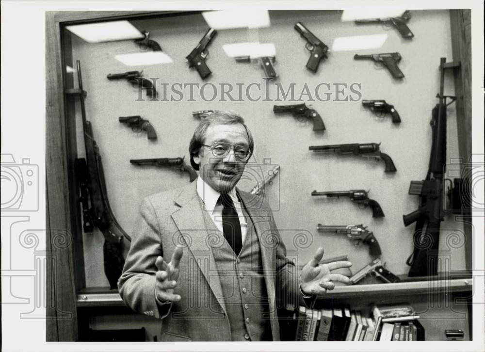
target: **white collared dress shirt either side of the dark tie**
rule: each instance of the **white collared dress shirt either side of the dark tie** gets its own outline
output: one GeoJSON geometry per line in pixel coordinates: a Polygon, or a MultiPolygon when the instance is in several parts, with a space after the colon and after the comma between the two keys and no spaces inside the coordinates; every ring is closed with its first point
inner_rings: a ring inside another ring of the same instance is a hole
{"type": "MultiPolygon", "coordinates": [[[[218,202],[219,196],[221,193],[215,191],[212,187],[210,187],[202,178],[197,177],[197,194],[199,195],[200,199],[204,203],[205,209],[216,227],[224,233],[223,226],[222,226],[222,205],[218,202]]],[[[241,239],[242,243],[244,243],[244,239],[246,238],[247,234],[247,222],[244,218],[244,214],[242,213],[241,203],[236,195],[236,190],[233,188],[230,192],[228,192],[229,196],[234,203],[234,208],[236,208],[236,212],[238,213],[239,223],[241,224],[241,239]]]]}

